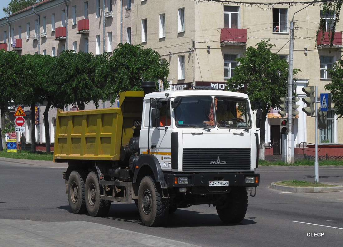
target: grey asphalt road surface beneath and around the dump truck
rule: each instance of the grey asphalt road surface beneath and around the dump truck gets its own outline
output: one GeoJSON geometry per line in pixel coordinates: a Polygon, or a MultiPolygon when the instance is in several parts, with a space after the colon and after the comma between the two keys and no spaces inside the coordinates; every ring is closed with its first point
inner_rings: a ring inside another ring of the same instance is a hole
{"type": "MultiPolygon", "coordinates": [[[[0,246],[339,246],[343,240],[343,192],[269,188],[293,178],[313,181],[313,167],[259,169],[257,196],[249,197],[240,224],[224,224],[214,207],[201,205],[178,209],[159,228],[142,225],[133,203],[113,203],[106,218],[71,213],[66,169],[54,167],[0,158],[0,246]]],[[[343,168],[320,168],[319,176],[342,183],[343,168]]]]}

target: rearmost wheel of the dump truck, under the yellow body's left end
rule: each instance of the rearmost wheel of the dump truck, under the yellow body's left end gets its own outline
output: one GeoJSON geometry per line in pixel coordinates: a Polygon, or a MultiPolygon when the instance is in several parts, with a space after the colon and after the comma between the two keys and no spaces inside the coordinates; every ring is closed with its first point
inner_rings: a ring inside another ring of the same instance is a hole
{"type": "Polygon", "coordinates": [[[68,179],[68,202],[73,213],[83,214],[87,212],[85,203],[85,178],[86,172],[82,170],[72,171],[68,179]]]}

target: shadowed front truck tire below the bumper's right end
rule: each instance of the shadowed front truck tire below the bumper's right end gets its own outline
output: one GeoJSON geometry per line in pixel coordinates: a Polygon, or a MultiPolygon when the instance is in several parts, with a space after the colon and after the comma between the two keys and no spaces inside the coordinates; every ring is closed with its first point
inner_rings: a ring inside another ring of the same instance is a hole
{"type": "Polygon", "coordinates": [[[232,187],[224,205],[217,206],[219,218],[225,223],[241,222],[248,208],[248,193],[245,187],[232,187]]]}

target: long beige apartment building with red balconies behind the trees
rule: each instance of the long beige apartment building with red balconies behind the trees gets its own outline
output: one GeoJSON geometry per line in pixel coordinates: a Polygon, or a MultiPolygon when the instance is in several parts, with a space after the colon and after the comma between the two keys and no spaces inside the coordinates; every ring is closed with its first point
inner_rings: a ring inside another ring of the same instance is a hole
{"type": "MultiPolygon", "coordinates": [[[[325,84],[331,81],[326,69],[342,55],[341,23],[336,26],[332,49],[327,32],[324,40],[316,38],[319,24],[329,31],[334,18],[322,19],[320,4],[261,8],[194,0],[45,0],[33,7],[0,20],[4,43],[0,48],[55,56],[64,49],[100,54],[111,52],[120,42],[142,44],[169,62],[171,89],[190,84],[223,89],[237,66],[235,59],[262,39],[270,39],[275,44],[272,51],[288,59],[291,20],[295,21],[294,68],[301,70],[295,82],[299,97],[305,96],[301,89],[306,86],[325,92],[325,84]],[[279,30],[274,31],[276,26],[279,30]]],[[[301,111],[303,101],[298,104],[300,113],[293,124],[295,146],[314,143],[315,119],[301,111]]],[[[281,117],[274,112],[272,109],[268,115],[265,142],[280,142],[281,117]]],[[[341,147],[340,125],[342,120],[337,120],[331,109],[328,128],[318,131],[322,146],[331,150],[341,147]]],[[[274,154],[280,152],[274,148],[274,154]]]]}

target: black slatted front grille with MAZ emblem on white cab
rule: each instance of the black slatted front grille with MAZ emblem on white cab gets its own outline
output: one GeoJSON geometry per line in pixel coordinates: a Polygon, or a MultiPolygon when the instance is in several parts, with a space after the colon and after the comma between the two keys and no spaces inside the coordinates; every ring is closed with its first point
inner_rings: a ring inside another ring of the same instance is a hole
{"type": "Polygon", "coordinates": [[[183,171],[250,171],[250,148],[184,148],[183,171]]]}

